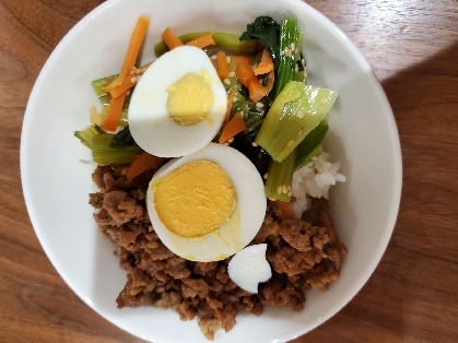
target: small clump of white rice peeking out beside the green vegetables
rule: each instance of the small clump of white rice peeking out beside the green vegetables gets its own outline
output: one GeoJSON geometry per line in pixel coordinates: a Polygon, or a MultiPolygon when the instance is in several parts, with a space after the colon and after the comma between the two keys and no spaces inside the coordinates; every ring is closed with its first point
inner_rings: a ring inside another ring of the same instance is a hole
{"type": "Polygon", "coordinates": [[[331,163],[330,156],[324,152],[293,174],[292,196],[295,201],[291,206],[297,218],[310,206],[310,197],[329,199],[329,188],[345,181],[345,176],[338,173],[340,162],[331,163]]]}

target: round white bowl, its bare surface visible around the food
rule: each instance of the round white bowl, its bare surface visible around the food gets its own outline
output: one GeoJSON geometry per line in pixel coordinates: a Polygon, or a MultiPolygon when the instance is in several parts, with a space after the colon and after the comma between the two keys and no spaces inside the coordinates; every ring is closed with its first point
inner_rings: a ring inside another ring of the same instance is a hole
{"type": "Polygon", "coordinates": [[[98,104],[91,81],[119,71],[140,14],[151,17],[144,61],[166,26],[178,34],[242,33],[258,15],[296,16],[305,34],[308,83],[339,92],[325,147],[342,162],[348,179],[332,189],[330,202],[349,250],[341,277],[327,292],[309,292],[303,311],[242,314],[215,341],[283,342],[306,333],[348,304],[380,260],[399,208],[401,155],[390,106],[368,63],[336,25],[301,1],[113,0],[79,22],[43,68],[22,131],[24,197],[43,248],[69,286],[116,326],[157,343],[205,341],[197,322],[183,322],[173,310],[116,308],[126,273],[94,223],[87,204],[94,165],[80,161],[82,145],[72,135],[89,125],[89,108],[98,104]]]}

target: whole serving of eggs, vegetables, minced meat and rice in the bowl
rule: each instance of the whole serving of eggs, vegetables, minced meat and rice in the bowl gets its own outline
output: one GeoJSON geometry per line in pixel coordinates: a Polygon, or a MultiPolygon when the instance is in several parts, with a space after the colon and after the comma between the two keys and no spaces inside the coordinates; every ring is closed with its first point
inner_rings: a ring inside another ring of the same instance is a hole
{"type": "MultiPolygon", "coordinates": [[[[344,177],[320,145],[328,130],[325,116],[337,94],[304,82],[296,21],[279,25],[260,16],[247,26],[242,44],[230,34],[176,37],[166,29],[163,38],[171,51],[136,68],[131,51],[138,52],[145,27],[148,19],[141,17],[120,75],[94,82],[107,102],[105,113],[93,109],[94,123],[75,132],[98,164],[93,180],[99,191],[90,196],[97,209],[94,217],[102,233],[118,244],[116,253],[128,271],[118,307],[136,307],[149,298],[154,306],[174,308],[181,319],[198,317],[208,339],[221,328],[231,330],[240,310],[260,315],[266,305],[303,309],[307,289],[326,289],[339,276],[347,249],[327,202],[329,186],[344,177]],[[191,46],[181,47],[187,40],[191,46]],[[204,46],[197,48],[200,44],[204,46]],[[201,48],[204,56],[197,52],[201,48]],[[196,71],[190,63],[164,85],[160,75],[169,69],[161,66],[176,55],[174,61],[183,61],[180,54],[185,60],[202,57],[203,67],[196,71]],[[202,131],[196,134],[197,126],[202,131]],[[145,128],[157,129],[152,140],[158,137],[160,143],[151,144],[153,129],[145,128]],[[181,132],[193,135],[183,139],[181,132]],[[179,146],[173,151],[175,143],[179,146]],[[231,159],[232,154],[243,157],[231,159]],[[220,170],[225,164],[227,170],[220,170]],[[244,164],[246,173],[232,175],[244,164]],[[208,185],[214,182],[200,182],[200,175],[225,186],[213,194],[208,185]],[[191,191],[183,197],[187,188],[191,191]],[[192,191],[210,204],[196,204],[192,191]],[[211,208],[216,198],[218,206],[211,208]],[[191,210],[181,211],[188,204],[191,210]],[[198,206],[202,211],[193,215],[198,206]],[[215,220],[208,209],[225,210],[215,220]],[[202,245],[190,248],[195,243],[202,245]],[[246,276],[237,277],[237,268],[227,271],[234,253],[244,259],[246,253],[238,251],[247,245],[265,245],[271,268],[269,277],[263,273],[250,286],[244,286],[246,276]]],[[[156,51],[161,49],[158,44],[156,51]]]]}

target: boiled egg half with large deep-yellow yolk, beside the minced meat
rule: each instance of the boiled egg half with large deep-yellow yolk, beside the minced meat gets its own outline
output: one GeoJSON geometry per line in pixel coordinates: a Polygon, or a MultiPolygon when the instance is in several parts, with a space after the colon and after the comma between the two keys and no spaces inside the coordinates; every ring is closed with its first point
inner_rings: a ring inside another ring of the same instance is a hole
{"type": "Polygon", "coordinates": [[[266,215],[263,182],[240,152],[210,143],[162,166],[146,209],[162,243],[191,261],[219,261],[247,246],[266,215]]]}

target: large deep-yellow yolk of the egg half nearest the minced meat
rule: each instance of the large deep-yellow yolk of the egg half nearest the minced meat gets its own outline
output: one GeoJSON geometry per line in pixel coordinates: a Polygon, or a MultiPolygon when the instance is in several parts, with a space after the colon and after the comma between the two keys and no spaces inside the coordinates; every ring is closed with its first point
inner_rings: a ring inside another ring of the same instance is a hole
{"type": "Polygon", "coordinates": [[[235,188],[214,162],[198,159],[157,181],[154,205],[164,226],[181,237],[203,237],[219,229],[236,206],[235,188]]]}

